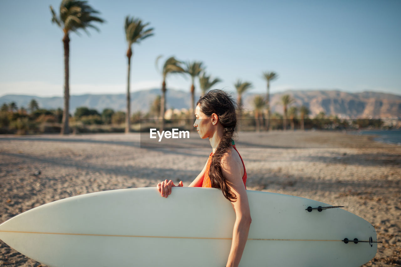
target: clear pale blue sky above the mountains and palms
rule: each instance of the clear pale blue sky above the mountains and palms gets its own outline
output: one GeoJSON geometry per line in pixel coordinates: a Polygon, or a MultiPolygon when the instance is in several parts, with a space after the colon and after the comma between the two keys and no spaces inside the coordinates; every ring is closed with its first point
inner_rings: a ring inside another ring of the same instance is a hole
{"type": "MultiPolygon", "coordinates": [[[[0,96],[63,95],[61,29],[49,5],[60,0],[0,1],[0,96]]],[[[240,78],[265,92],[340,89],[401,94],[401,1],[132,1],[89,0],[107,22],[90,36],[70,34],[70,93],[125,93],[127,15],[150,22],[155,35],[134,44],[132,90],[162,83],[155,59],[200,60],[233,91],[240,78]]],[[[171,76],[167,87],[189,90],[171,76]]]]}

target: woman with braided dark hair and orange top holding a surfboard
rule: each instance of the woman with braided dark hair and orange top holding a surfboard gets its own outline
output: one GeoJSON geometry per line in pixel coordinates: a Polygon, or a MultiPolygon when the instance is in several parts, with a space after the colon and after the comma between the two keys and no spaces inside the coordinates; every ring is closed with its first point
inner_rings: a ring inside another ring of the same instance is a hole
{"type": "MultiPolygon", "coordinates": [[[[251,214],[245,187],[245,165],[232,140],[237,124],[235,105],[227,93],[215,89],[198,100],[195,117],[194,127],[202,139],[209,138],[213,152],[202,172],[189,186],[219,188],[231,201],[236,219],[226,266],[237,267],[247,241],[251,214]]],[[[166,198],[174,186],[171,180],[157,184],[162,197],[166,198]]],[[[182,181],[178,186],[183,186],[182,181]]]]}

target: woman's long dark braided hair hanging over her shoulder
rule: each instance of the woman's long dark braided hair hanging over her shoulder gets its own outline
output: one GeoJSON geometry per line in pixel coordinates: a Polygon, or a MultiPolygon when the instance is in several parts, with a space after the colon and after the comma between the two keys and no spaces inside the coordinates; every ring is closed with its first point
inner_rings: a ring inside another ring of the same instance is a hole
{"type": "Polygon", "coordinates": [[[237,115],[235,108],[237,104],[225,91],[214,89],[199,98],[196,105],[200,105],[201,111],[210,117],[216,113],[219,117],[223,129],[223,137],[213,154],[209,169],[209,178],[213,188],[223,191],[225,198],[235,202],[237,196],[229,189],[227,181],[221,170],[221,158],[226,152],[231,150],[233,136],[235,135],[235,125],[237,125],[237,115]]]}

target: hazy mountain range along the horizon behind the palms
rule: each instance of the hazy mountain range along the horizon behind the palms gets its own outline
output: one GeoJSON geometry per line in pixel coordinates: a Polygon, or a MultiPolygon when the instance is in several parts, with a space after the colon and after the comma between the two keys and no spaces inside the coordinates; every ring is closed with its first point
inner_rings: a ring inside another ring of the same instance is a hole
{"type": "MultiPolygon", "coordinates": [[[[160,89],[149,89],[131,93],[132,112],[148,112],[151,103],[160,89]]],[[[232,92],[230,92],[232,93],[232,92]]],[[[294,99],[291,105],[305,105],[310,109],[310,115],[315,116],[320,112],[326,115],[337,115],[342,118],[401,118],[401,95],[378,92],[347,93],[338,90],[288,90],[273,93],[270,96],[271,112],[283,113],[280,104],[282,95],[288,94],[294,99]]],[[[243,95],[243,107],[245,110],[253,110],[253,98],[257,93],[243,95]]],[[[265,94],[260,93],[265,96],[265,94]]],[[[235,93],[233,97],[236,98],[235,93]]],[[[176,109],[188,109],[190,107],[190,93],[180,90],[167,90],[166,107],[176,109]]],[[[198,99],[199,95],[195,96],[198,99]]],[[[0,105],[15,102],[18,107],[28,107],[28,103],[35,99],[40,108],[57,109],[63,107],[63,97],[38,97],[33,95],[4,95],[0,97],[0,105]]],[[[77,107],[88,107],[101,112],[105,108],[115,111],[126,109],[126,94],[104,95],[71,95],[70,112],[77,107]]]]}

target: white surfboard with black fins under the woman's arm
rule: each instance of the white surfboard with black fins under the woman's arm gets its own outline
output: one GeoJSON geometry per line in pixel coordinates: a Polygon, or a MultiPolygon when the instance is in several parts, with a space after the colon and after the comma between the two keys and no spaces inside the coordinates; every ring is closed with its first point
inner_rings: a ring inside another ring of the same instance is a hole
{"type": "MultiPolygon", "coordinates": [[[[376,254],[374,227],[350,212],[295,196],[247,194],[252,223],[240,266],[358,267],[376,254]]],[[[222,267],[234,222],[218,189],[173,188],[162,198],[156,188],[134,188],[28,210],[0,225],[0,239],[51,267],[222,267]]]]}

